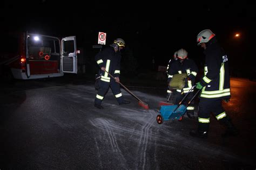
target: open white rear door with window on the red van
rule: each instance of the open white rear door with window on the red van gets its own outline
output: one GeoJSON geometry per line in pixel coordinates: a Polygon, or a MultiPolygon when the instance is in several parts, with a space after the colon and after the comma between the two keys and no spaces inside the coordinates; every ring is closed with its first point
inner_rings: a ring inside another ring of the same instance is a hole
{"type": "Polygon", "coordinates": [[[76,37],[62,39],[62,71],[63,73],[77,74],[77,45],[76,37]]]}

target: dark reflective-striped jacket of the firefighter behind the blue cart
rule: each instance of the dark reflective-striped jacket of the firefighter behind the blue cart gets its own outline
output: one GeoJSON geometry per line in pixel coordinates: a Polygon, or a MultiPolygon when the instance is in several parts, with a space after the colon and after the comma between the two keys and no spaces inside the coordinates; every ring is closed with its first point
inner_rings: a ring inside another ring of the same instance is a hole
{"type": "MultiPolygon", "coordinates": [[[[174,61],[169,69],[168,81],[170,82],[174,74],[187,74],[187,81],[183,88],[184,93],[187,93],[195,83],[195,79],[198,73],[198,67],[196,63],[191,59],[185,59],[182,63],[179,60],[174,61]]],[[[181,90],[177,89],[181,93],[181,90]]]]}

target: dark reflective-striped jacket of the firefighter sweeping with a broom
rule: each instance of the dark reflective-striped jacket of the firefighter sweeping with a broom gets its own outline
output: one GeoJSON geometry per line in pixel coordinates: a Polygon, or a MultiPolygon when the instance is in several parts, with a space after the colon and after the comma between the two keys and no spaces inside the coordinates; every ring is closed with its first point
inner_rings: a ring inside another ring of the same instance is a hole
{"type": "MultiPolygon", "coordinates": [[[[106,71],[114,77],[120,76],[121,54],[120,52],[115,52],[113,47],[106,47],[96,54],[95,61],[99,68],[105,67],[106,71]]],[[[110,82],[111,77],[108,73],[100,69],[100,74],[102,75],[100,80],[110,82]]]]}

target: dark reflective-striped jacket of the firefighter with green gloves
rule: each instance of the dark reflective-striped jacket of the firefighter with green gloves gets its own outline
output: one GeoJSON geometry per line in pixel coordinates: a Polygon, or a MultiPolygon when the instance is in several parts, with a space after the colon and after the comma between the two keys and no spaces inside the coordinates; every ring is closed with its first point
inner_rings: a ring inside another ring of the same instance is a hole
{"type": "Polygon", "coordinates": [[[214,42],[207,46],[204,54],[204,77],[200,81],[200,84],[204,87],[200,97],[214,99],[230,98],[230,76],[226,53],[217,42],[214,42]]]}

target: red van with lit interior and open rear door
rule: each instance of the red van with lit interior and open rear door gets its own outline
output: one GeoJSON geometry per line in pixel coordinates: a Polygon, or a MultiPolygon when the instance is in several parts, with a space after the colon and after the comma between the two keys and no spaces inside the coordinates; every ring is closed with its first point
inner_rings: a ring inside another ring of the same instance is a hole
{"type": "Polygon", "coordinates": [[[0,75],[11,79],[42,79],[77,74],[76,37],[8,33],[0,48],[0,75]]]}

